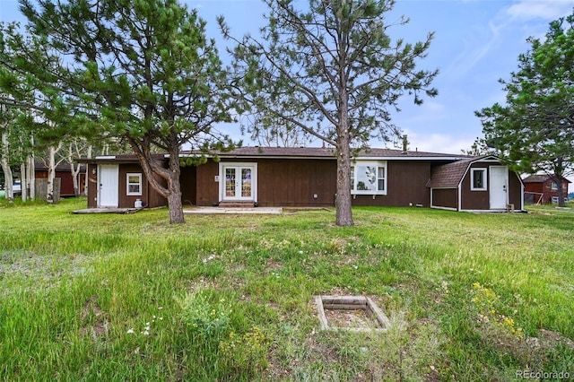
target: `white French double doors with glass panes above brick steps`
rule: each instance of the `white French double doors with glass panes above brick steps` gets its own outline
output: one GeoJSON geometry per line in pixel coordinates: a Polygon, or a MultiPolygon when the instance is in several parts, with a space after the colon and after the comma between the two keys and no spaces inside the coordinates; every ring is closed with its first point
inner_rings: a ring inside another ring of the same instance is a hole
{"type": "Polygon", "coordinates": [[[222,163],[220,174],[220,200],[257,200],[256,164],[222,163]]]}

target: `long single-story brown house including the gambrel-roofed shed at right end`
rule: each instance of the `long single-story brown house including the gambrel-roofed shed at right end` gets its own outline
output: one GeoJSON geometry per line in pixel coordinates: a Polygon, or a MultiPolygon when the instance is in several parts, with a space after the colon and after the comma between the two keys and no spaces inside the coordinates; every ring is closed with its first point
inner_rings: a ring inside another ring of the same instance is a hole
{"type": "MultiPolygon", "coordinates": [[[[158,155],[156,160],[167,166],[167,156],[158,155]]],[[[88,166],[89,208],[133,207],[138,199],[147,207],[167,204],[150,187],[134,155],[82,162],[88,166]]],[[[523,207],[520,178],[495,157],[370,149],[354,157],[351,181],[353,205],[419,205],[457,211],[506,211],[507,204],[523,207]],[[456,177],[448,166],[456,163],[463,163],[465,170],[453,182],[456,177]]],[[[333,206],[335,152],[313,147],[242,147],[219,152],[217,161],[209,157],[203,164],[182,167],[180,182],[184,205],[333,206]]]]}

